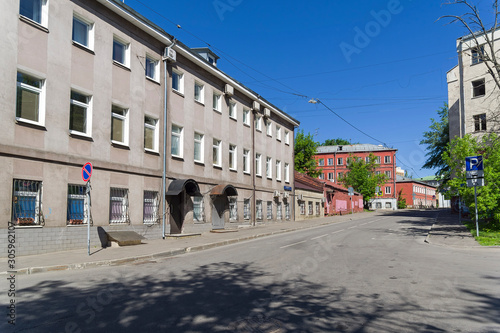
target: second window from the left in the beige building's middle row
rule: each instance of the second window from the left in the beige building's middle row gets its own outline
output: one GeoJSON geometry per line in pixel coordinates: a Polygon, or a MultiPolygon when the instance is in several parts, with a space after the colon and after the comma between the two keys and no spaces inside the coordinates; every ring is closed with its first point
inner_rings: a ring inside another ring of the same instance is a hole
{"type": "Polygon", "coordinates": [[[92,111],[91,97],[74,90],[71,91],[69,108],[69,130],[91,136],[92,111]]]}

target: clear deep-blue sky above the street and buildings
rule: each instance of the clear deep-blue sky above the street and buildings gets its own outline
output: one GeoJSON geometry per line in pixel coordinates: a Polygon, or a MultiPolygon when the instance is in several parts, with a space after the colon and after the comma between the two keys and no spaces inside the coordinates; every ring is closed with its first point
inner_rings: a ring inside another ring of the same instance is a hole
{"type": "MultiPolygon", "coordinates": [[[[434,174],[421,169],[419,142],[447,101],[456,39],[468,34],[437,19],[463,7],[441,0],[125,3],[190,47],[209,44],[221,70],[299,120],[316,141],[383,142],[398,149],[397,164],[409,174],[434,174]]],[[[478,4],[484,17],[488,3],[478,4]]]]}

